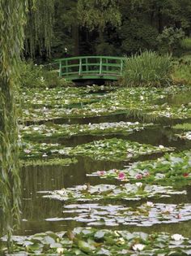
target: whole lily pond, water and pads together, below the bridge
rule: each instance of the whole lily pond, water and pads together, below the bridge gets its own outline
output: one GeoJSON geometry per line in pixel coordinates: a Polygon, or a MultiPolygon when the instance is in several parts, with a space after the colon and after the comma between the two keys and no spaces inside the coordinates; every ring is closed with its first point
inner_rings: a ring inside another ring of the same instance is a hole
{"type": "Polygon", "coordinates": [[[40,254],[31,235],[70,231],[75,250],[67,236],[46,254],[189,255],[190,98],[188,86],[23,90],[17,251],[40,254]]]}

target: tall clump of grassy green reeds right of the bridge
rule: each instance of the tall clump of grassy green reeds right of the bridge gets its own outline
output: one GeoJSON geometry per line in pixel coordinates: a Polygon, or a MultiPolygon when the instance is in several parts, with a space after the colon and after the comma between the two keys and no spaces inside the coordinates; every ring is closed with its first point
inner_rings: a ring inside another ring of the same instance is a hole
{"type": "Polygon", "coordinates": [[[159,56],[152,51],[125,58],[123,85],[161,86],[171,80],[172,62],[168,54],[159,56]]]}

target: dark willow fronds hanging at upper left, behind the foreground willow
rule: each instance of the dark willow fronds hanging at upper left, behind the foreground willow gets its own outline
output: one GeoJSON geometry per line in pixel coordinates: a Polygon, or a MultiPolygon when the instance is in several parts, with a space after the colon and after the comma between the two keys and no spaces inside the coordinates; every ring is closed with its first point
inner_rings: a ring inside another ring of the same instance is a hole
{"type": "Polygon", "coordinates": [[[36,50],[50,54],[53,37],[54,0],[28,0],[25,28],[25,50],[34,56],[36,50]]]}

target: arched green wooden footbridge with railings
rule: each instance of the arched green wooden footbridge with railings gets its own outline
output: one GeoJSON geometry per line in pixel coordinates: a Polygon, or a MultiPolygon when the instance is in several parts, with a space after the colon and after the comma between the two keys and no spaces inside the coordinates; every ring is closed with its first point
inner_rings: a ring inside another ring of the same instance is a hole
{"type": "Polygon", "coordinates": [[[56,59],[59,76],[67,80],[118,80],[122,75],[124,59],[108,56],[82,56],[56,59]]]}

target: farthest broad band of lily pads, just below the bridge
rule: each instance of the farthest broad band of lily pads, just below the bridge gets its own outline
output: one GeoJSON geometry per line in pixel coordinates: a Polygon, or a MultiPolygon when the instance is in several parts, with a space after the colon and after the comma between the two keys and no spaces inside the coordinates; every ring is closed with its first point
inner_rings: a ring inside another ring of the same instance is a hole
{"type": "Polygon", "coordinates": [[[29,98],[28,102],[39,102],[39,104],[37,104],[37,108],[32,107],[33,105],[23,108],[22,119],[25,121],[39,121],[64,117],[90,117],[132,113],[132,111],[156,117],[180,119],[191,117],[188,104],[182,104],[181,106],[163,104],[163,98],[167,98],[173,93],[189,90],[189,87],[186,86],[171,86],[168,89],[119,88],[114,92],[101,96],[92,93],[88,95],[85,91],[82,93],[83,89],[73,90],[74,93],[66,94],[65,89],[60,92],[53,91],[53,93],[51,91],[49,93],[46,93],[46,91],[34,93],[33,98],[29,98]],[[76,97],[78,90],[79,97],[76,97]],[[52,99],[50,100],[50,98],[52,99]],[[72,108],[70,107],[71,104],[77,103],[79,103],[79,106],[74,105],[72,108]]]}

